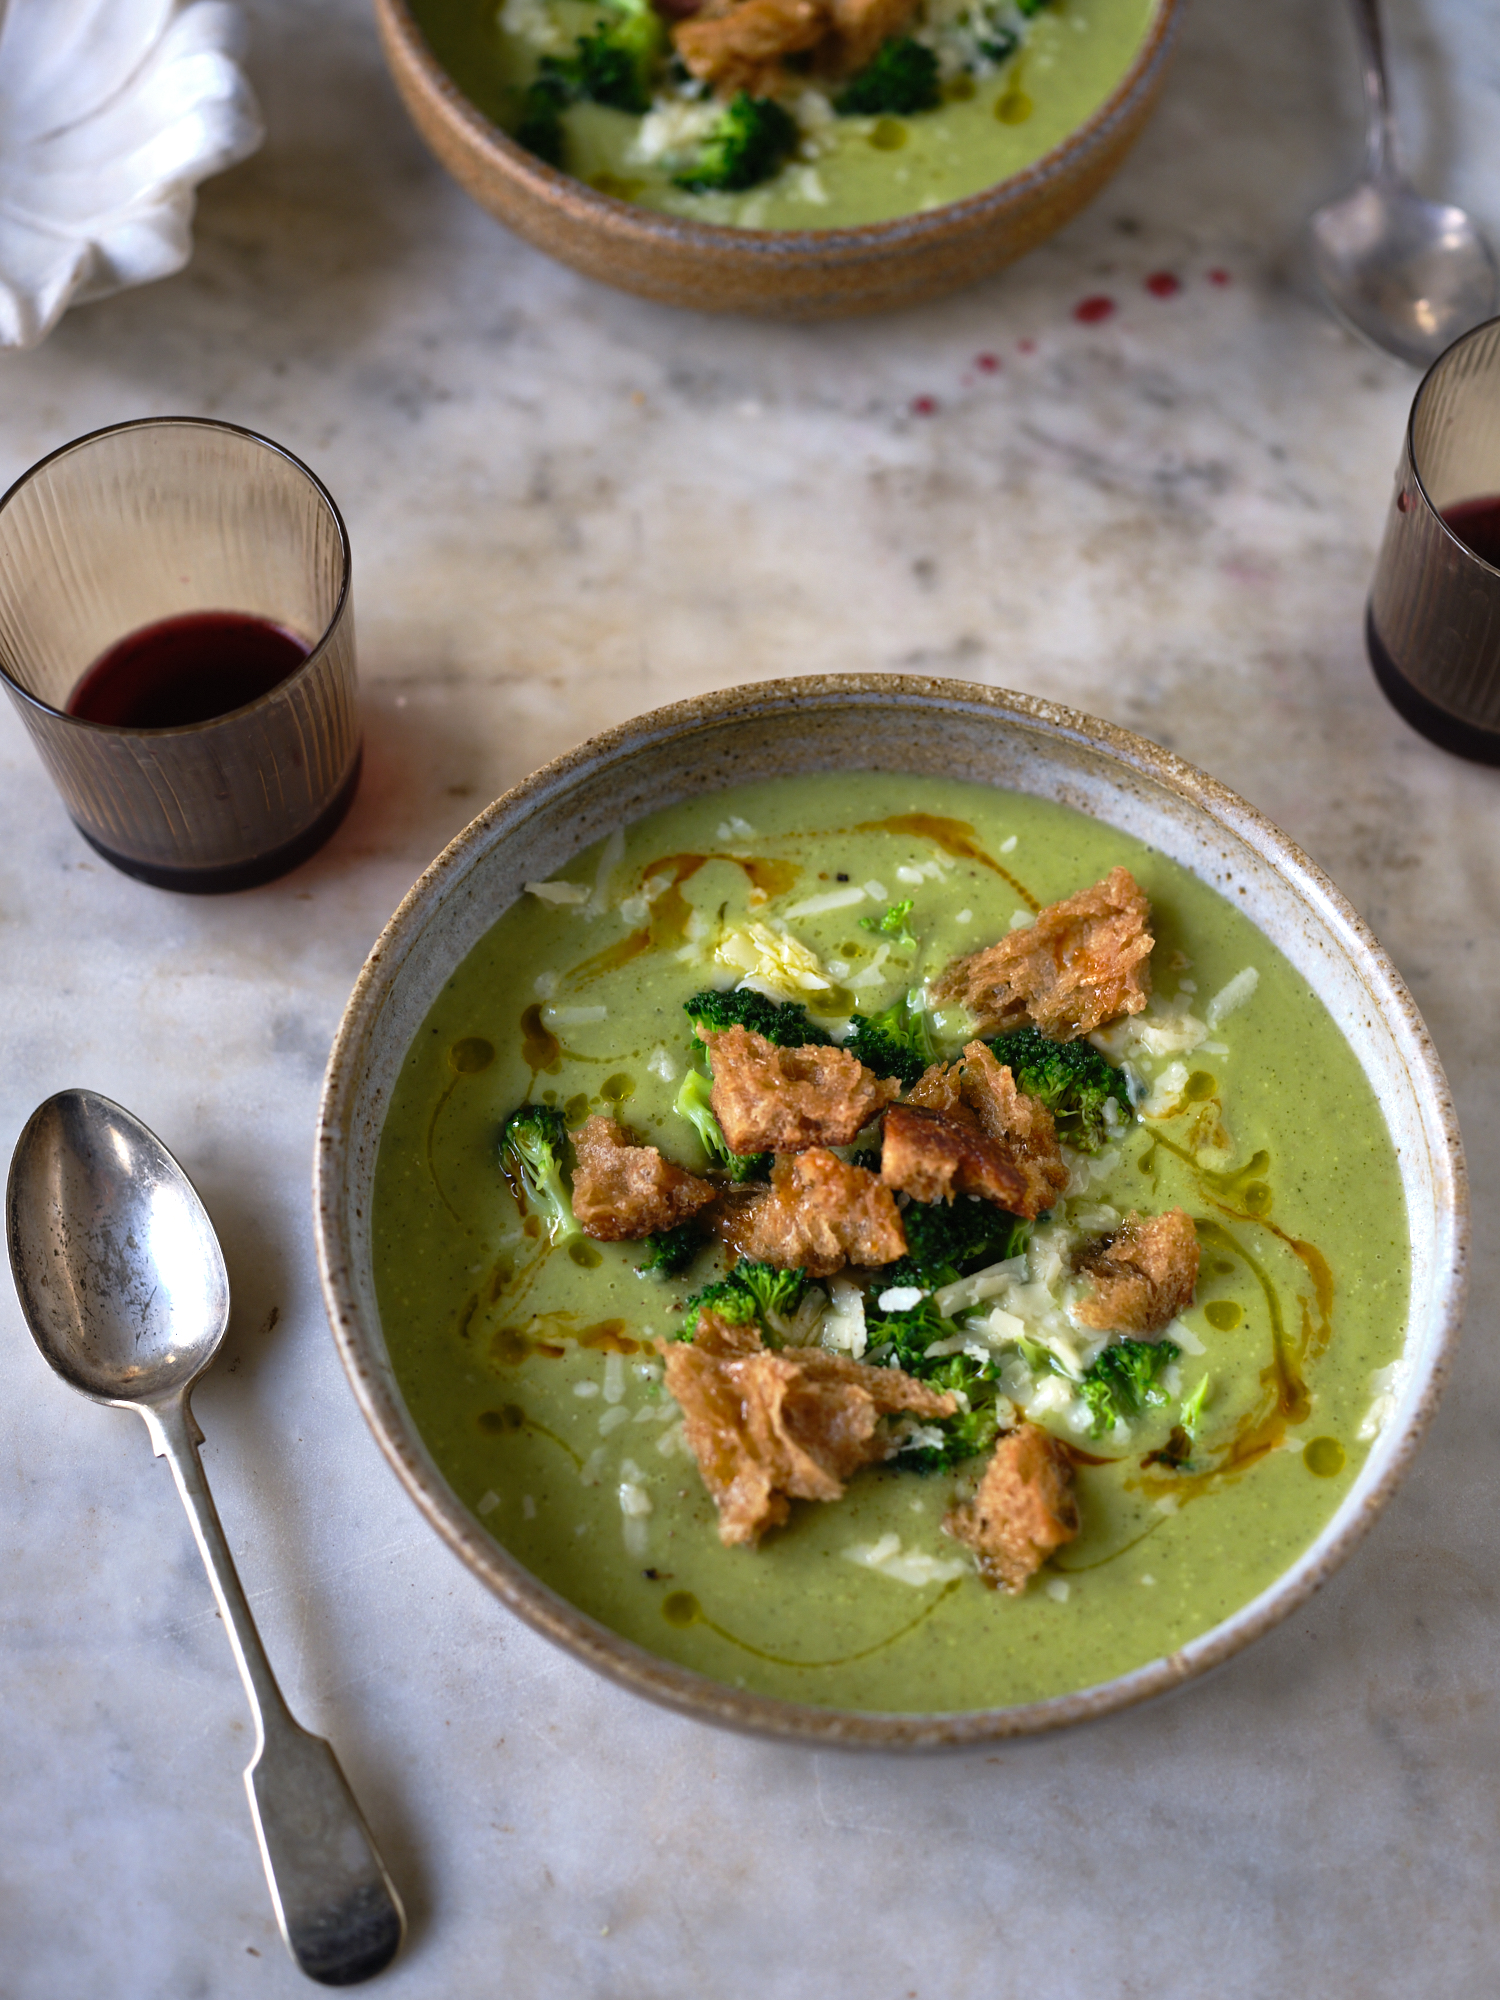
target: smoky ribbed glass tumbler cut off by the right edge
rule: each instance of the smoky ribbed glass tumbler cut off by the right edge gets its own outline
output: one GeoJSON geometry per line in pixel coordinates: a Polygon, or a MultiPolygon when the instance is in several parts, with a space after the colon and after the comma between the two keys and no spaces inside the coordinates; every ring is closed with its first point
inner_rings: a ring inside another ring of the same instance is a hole
{"type": "Polygon", "coordinates": [[[1500,320],[1422,378],[1364,636],[1412,728],[1500,764],[1500,320]]]}

